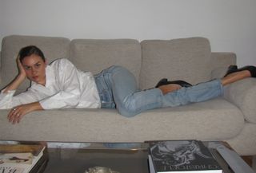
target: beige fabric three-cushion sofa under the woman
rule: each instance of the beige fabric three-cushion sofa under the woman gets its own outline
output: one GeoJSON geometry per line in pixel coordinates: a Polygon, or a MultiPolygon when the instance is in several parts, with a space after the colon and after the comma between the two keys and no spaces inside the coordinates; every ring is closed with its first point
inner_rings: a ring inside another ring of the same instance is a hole
{"type": "MultiPolygon", "coordinates": [[[[60,57],[84,71],[99,73],[123,65],[137,77],[140,88],[162,78],[192,84],[222,77],[236,63],[234,53],[212,53],[203,37],[175,40],[93,40],[12,35],[2,40],[1,88],[18,73],[18,50],[38,45],[47,60],[60,57]]],[[[29,82],[18,92],[25,90],[29,82]]],[[[0,140],[74,142],[143,142],[145,140],[226,140],[240,155],[256,155],[256,79],[225,88],[214,100],[177,108],[158,108],[132,118],[115,109],[61,109],[31,112],[20,124],[10,124],[0,110],[0,140]]]]}

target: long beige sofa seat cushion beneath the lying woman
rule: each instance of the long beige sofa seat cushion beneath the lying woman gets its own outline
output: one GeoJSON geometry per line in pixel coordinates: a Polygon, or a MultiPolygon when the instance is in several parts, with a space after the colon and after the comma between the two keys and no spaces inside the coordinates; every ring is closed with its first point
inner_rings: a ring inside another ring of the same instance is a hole
{"type": "Polygon", "coordinates": [[[32,112],[20,124],[7,123],[1,110],[2,140],[143,142],[226,140],[242,131],[242,113],[222,98],[177,108],[159,108],[126,118],[115,109],[32,112]]]}

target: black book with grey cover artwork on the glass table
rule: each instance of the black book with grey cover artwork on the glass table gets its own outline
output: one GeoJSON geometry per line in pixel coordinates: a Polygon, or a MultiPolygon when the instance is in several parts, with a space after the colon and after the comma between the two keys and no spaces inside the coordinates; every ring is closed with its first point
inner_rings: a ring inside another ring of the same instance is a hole
{"type": "Polygon", "coordinates": [[[150,173],[222,173],[222,167],[199,140],[150,141],[150,173]]]}

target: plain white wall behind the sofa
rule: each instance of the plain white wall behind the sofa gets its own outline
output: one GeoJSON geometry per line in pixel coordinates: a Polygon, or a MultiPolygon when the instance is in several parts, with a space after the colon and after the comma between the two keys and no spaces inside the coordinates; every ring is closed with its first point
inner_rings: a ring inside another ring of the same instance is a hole
{"type": "Polygon", "coordinates": [[[0,39],[208,37],[212,51],[256,65],[255,0],[0,0],[0,39]]]}

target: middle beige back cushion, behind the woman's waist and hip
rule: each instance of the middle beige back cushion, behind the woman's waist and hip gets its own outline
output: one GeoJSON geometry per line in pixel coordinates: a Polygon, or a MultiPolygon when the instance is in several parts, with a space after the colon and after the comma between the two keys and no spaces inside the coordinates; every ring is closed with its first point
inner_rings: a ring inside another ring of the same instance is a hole
{"type": "Polygon", "coordinates": [[[83,71],[100,73],[112,65],[129,69],[138,81],[141,46],[133,39],[74,39],[70,44],[70,61],[83,71]]]}

